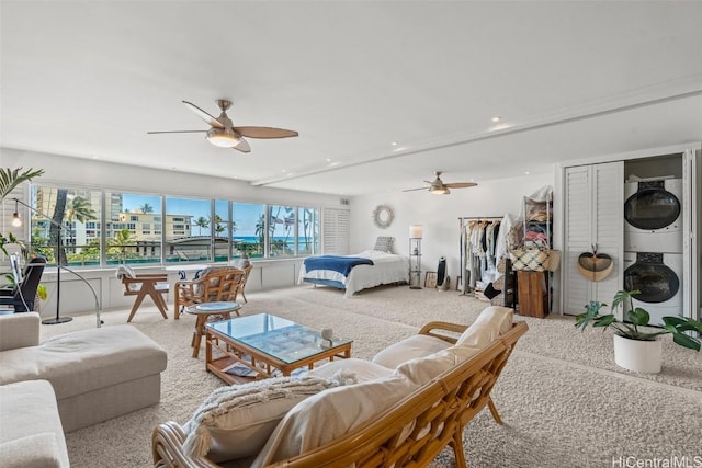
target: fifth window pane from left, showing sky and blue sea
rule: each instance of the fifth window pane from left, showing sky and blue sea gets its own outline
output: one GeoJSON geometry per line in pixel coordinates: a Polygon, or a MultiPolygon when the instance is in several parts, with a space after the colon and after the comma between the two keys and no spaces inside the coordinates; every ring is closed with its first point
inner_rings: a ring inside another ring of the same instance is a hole
{"type": "Polygon", "coordinates": [[[233,203],[234,256],[246,253],[250,258],[263,256],[265,246],[265,205],[252,203],[233,203]]]}

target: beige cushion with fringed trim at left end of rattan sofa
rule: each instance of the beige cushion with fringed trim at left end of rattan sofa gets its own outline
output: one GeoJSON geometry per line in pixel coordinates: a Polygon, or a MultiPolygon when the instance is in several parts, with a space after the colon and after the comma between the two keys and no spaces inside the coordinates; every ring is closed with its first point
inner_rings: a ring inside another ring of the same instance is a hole
{"type": "Polygon", "coordinates": [[[276,377],[215,389],[183,425],[183,449],[218,463],[258,454],[285,413],[302,400],[355,378],[276,377]]]}

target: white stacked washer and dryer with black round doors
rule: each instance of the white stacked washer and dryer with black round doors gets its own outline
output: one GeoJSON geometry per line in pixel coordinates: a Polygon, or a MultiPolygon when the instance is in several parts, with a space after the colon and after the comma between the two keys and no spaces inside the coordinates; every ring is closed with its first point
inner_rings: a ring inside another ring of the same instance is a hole
{"type": "Polygon", "coordinates": [[[624,287],[663,326],[682,311],[682,180],[627,182],[624,194],[624,287]]]}

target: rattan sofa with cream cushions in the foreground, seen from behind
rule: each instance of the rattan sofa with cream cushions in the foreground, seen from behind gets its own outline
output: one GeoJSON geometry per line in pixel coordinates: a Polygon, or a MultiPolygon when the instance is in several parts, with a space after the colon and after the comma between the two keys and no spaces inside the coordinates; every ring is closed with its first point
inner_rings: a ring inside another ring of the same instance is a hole
{"type": "Polygon", "coordinates": [[[154,465],[179,467],[426,466],[490,398],[528,327],[488,307],[471,327],[431,322],[373,362],[333,361],[303,377],[223,387],[183,426],[154,430],[154,465]]]}

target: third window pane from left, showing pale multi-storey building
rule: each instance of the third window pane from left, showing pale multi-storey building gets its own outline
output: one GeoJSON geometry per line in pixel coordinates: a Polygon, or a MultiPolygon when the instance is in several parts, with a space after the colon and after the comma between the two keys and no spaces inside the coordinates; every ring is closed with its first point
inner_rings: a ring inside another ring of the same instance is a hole
{"type": "Polygon", "coordinates": [[[168,261],[212,261],[212,201],[166,198],[168,261]]]}

